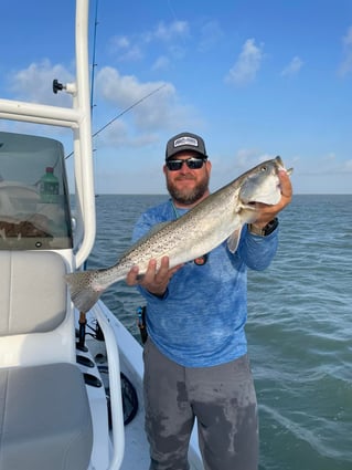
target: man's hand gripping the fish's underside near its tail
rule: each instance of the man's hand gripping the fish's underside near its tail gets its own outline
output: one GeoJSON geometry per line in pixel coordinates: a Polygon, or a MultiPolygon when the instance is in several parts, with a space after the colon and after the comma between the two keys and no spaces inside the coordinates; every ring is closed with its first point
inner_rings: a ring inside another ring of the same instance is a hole
{"type": "Polygon", "coordinates": [[[126,282],[128,285],[139,284],[153,295],[163,295],[172,275],[182,268],[182,264],[170,269],[169,257],[161,259],[160,268],[157,270],[157,260],[150,260],[146,274],[138,279],[139,269],[134,267],[127,274],[126,282]]]}

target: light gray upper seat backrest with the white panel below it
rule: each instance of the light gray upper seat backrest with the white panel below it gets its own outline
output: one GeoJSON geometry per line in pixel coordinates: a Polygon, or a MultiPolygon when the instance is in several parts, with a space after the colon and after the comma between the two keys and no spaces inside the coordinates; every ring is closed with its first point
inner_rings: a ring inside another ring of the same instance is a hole
{"type": "Polygon", "coordinates": [[[0,250],[0,367],[75,362],[75,324],[53,251],[0,250]]]}

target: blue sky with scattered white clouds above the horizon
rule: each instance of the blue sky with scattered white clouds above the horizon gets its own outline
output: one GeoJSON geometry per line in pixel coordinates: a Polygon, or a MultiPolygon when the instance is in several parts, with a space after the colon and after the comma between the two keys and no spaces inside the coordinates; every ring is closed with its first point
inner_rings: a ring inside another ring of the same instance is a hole
{"type": "MultiPolygon", "coordinates": [[[[280,155],[294,168],[295,194],[351,194],[351,0],[89,8],[97,192],[166,194],[167,140],[188,130],[205,140],[212,190],[280,155]]],[[[52,81],[74,76],[74,0],[3,1],[0,56],[0,97],[70,104],[52,81]]],[[[65,132],[42,134],[70,154],[65,132]]]]}

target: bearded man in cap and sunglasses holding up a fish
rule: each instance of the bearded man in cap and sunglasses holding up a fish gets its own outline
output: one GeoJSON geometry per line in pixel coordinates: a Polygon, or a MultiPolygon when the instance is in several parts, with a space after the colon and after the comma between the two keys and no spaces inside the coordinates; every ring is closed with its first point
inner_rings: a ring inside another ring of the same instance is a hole
{"type": "MultiPolygon", "coordinates": [[[[181,133],[167,144],[163,173],[171,199],[138,220],[134,241],[153,226],[173,220],[210,194],[212,165],[204,140],[181,133]]],[[[244,227],[235,253],[226,242],[201,260],[160,269],[150,260],[138,281],[127,278],[147,301],[145,345],[146,430],[150,470],[186,470],[194,419],[205,470],[256,470],[257,403],[247,357],[247,268],[263,270],[278,242],[277,213],[291,200],[291,185],[279,175],[281,200],[260,205],[255,223],[244,227]]]]}

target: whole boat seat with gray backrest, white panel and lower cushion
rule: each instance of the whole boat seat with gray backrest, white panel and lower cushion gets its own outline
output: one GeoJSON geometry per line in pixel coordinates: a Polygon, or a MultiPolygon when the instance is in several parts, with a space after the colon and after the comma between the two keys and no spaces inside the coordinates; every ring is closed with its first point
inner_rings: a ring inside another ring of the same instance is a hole
{"type": "Polygon", "coordinates": [[[93,425],[66,262],[0,250],[0,469],[86,470],[93,425]]]}

